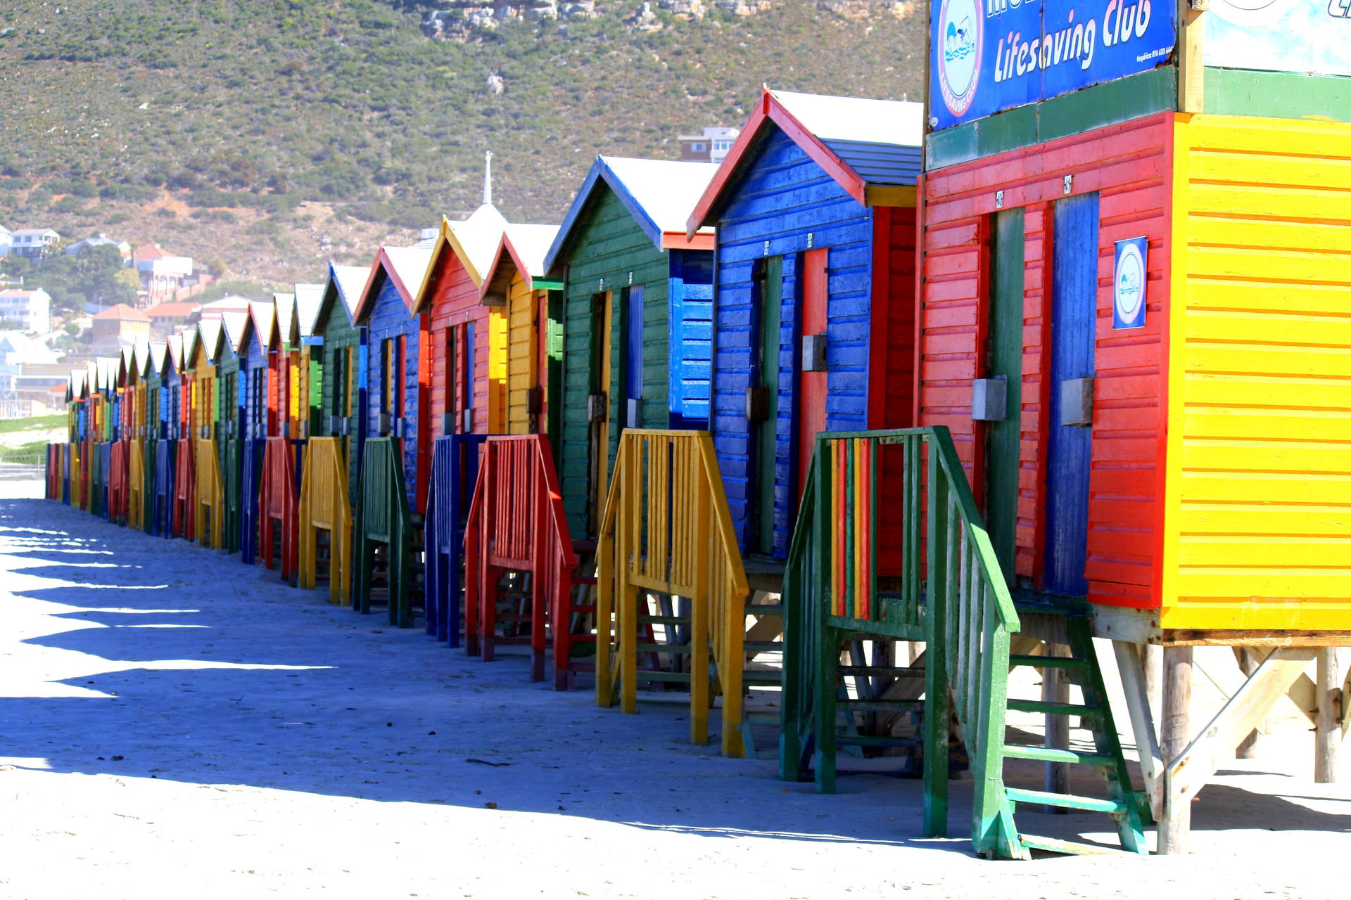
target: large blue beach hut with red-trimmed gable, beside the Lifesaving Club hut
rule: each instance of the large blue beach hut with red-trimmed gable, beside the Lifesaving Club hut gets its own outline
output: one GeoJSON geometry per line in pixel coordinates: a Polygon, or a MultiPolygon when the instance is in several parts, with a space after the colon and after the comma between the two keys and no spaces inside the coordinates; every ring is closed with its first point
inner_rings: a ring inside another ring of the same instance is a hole
{"type": "Polygon", "coordinates": [[[689,217],[717,229],[711,430],[746,555],[782,560],[823,430],[907,426],[923,104],[765,89],[689,217]]]}

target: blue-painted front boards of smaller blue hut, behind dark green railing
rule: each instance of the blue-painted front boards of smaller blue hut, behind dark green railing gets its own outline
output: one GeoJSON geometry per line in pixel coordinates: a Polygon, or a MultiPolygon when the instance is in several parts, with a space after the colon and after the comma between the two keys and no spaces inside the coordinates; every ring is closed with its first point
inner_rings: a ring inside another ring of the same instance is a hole
{"type": "MultiPolygon", "coordinates": [[[[404,491],[408,495],[408,503],[411,509],[416,509],[416,490],[417,490],[417,366],[422,360],[417,359],[420,341],[419,335],[423,328],[423,321],[426,314],[412,316],[408,312],[408,304],[404,301],[403,296],[399,293],[399,287],[394,285],[393,279],[389,278],[388,273],[381,269],[370,290],[376,291],[374,300],[370,301],[369,306],[363,310],[362,325],[366,327],[366,355],[367,362],[365,364],[365,376],[362,383],[366,386],[366,397],[369,402],[366,403],[366,433],[370,436],[380,436],[380,416],[381,413],[389,413],[390,420],[390,433],[393,433],[393,420],[401,418],[401,437],[403,437],[403,468],[404,468],[404,491]],[[399,339],[404,337],[403,351],[399,351],[399,339]],[[392,410],[382,409],[385,393],[384,378],[386,375],[385,368],[385,341],[389,341],[389,347],[397,354],[394,356],[394,376],[400,382],[401,390],[393,391],[396,398],[396,407],[392,410]]],[[[365,443],[365,441],[362,441],[365,443]]]]}

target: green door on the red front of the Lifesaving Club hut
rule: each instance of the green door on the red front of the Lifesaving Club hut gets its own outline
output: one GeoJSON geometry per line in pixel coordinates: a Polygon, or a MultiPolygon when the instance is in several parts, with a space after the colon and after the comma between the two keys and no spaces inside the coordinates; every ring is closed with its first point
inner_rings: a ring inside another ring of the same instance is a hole
{"type": "Polygon", "coordinates": [[[1013,584],[1023,430],[1023,210],[996,213],[993,225],[985,376],[1004,382],[1006,393],[1004,418],[986,422],[985,524],[1004,578],[1013,584]]]}

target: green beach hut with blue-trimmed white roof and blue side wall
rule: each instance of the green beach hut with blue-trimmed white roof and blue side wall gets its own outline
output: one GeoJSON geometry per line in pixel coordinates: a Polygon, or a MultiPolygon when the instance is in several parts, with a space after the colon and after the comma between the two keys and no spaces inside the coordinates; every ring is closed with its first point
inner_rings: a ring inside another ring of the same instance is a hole
{"type": "Polygon", "coordinates": [[[712,229],[685,223],[709,163],[598,157],[549,248],[563,281],[559,480],[594,537],[623,428],[707,428],[712,229]]]}

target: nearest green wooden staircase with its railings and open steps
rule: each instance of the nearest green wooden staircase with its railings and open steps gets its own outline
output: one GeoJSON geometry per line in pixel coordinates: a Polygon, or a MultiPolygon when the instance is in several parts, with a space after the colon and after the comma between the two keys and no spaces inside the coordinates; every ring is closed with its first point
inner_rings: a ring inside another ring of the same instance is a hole
{"type": "Polygon", "coordinates": [[[965,750],[974,788],[971,846],[979,855],[1112,850],[1024,834],[1015,823],[1019,804],[1106,814],[1123,851],[1147,851],[1148,807],[1131,787],[1088,611],[1051,598],[1015,603],[946,428],[817,437],[784,614],[781,777],[804,780],[812,770],[817,788],[832,792],[842,748],[921,754],[924,831],[944,837],[950,769],[965,750]],[[896,641],[923,641],[925,650],[896,665],[885,650],[896,641]],[[1009,675],[1024,667],[1043,677],[1054,672],[1078,687],[1082,702],[1011,698],[1009,675]],[[1047,725],[1078,719],[1092,749],[1013,742],[1011,733],[1027,731],[1009,729],[1009,714],[1043,716],[1047,725]],[[913,733],[897,727],[904,721],[916,725],[913,733]],[[1028,769],[1017,761],[1048,770],[1089,766],[1104,796],[1021,787],[1028,769]]]}

